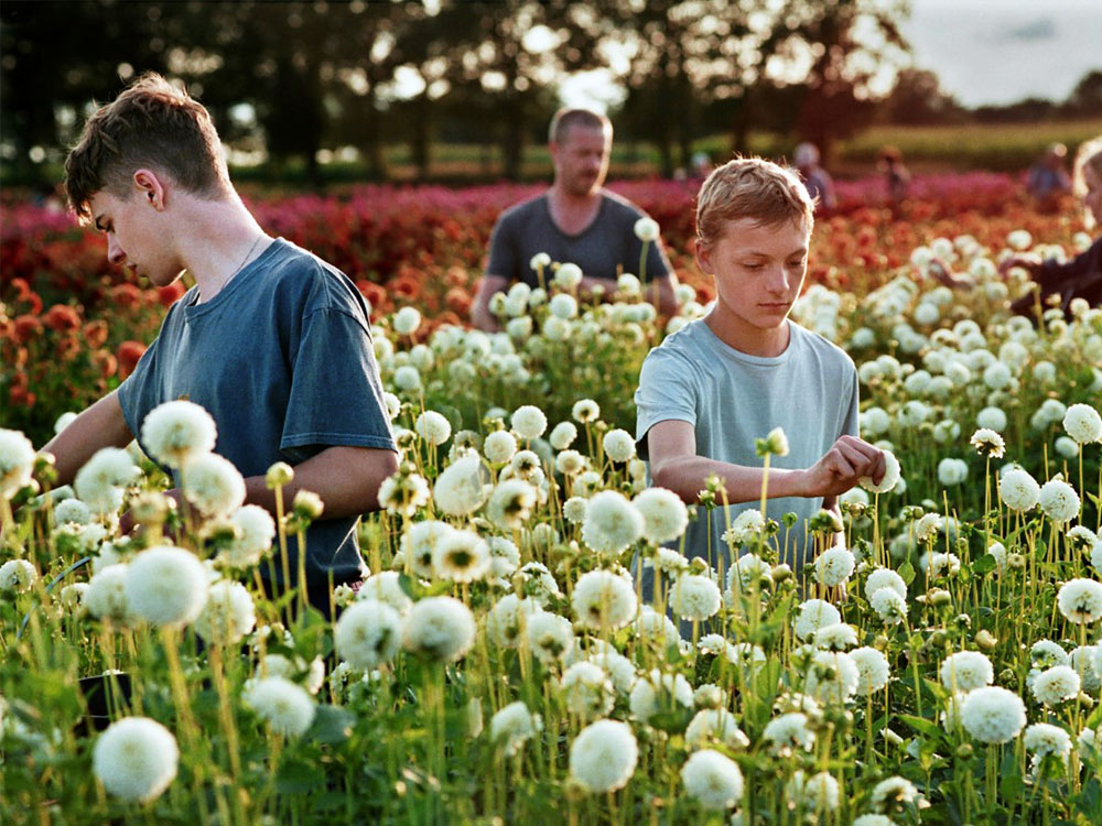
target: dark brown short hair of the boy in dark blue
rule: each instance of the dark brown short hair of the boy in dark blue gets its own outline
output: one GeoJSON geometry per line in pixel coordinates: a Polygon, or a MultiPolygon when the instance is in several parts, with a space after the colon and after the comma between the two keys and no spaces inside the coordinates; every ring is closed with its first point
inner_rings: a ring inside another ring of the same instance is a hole
{"type": "Polygon", "coordinates": [[[142,166],[201,197],[217,198],[230,189],[210,113],[153,73],[88,118],[65,160],[65,189],[77,217],[91,217],[88,202],[100,191],[128,197],[131,176],[142,166]]]}

